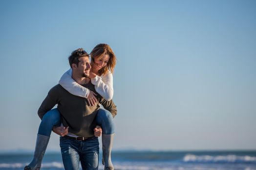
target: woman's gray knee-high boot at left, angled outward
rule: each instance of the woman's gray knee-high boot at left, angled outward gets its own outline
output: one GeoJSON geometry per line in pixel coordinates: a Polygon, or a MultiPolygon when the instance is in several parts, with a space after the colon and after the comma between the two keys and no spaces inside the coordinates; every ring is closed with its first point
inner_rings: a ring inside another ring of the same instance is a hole
{"type": "Polygon", "coordinates": [[[37,134],[36,148],[32,162],[24,167],[24,170],[40,170],[43,155],[47,148],[50,137],[37,134]]]}

